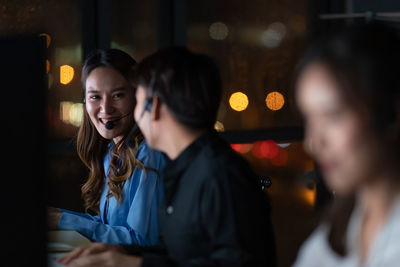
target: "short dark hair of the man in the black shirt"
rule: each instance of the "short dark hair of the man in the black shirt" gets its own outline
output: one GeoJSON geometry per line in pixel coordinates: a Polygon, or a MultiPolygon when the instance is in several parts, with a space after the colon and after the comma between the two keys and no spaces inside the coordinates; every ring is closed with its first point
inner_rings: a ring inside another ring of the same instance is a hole
{"type": "Polygon", "coordinates": [[[213,128],[222,97],[219,70],[208,56],[183,47],[161,49],[138,64],[136,84],[157,96],[191,129],[213,128]]]}

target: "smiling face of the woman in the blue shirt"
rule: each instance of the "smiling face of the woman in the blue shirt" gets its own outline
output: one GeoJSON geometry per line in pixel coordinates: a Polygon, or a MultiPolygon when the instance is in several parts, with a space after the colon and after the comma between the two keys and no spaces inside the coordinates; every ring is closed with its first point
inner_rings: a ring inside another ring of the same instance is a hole
{"type": "Polygon", "coordinates": [[[133,125],[132,86],[116,70],[98,67],[90,72],[85,88],[86,111],[93,125],[102,137],[118,142],[133,125]],[[108,121],[115,121],[110,130],[108,121]]]}

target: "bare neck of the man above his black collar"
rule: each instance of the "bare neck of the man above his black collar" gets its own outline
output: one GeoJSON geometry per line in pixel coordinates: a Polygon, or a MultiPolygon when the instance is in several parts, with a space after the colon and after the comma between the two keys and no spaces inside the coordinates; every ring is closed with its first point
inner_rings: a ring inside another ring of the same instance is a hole
{"type": "Polygon", "coordinates": [[[163,151],[171,160],[175,160],[190,144],[196,141],[206,129],[193,130],[176,125],[170,131],[169,141],[164,144],[163,151]]]}

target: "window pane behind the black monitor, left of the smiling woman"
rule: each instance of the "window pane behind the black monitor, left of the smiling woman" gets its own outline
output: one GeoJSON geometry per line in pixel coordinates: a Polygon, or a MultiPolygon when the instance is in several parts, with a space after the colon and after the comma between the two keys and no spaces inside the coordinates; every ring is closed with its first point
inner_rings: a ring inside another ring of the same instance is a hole
{"type": "MultiPolygon", "coordinates": [[[[42,35],[46,38],[47,202],[57,207],[82,210],[79,187],[87,170],[71,142],[82,118],[81,3],[77,0],[1,1],[0,21],[1,36],[42,35]],[[63,143],[63,140],[67,142],[63,143]]],[[[28,138],[29,133],[26,136],[28,138]]],[[[45,178],[45,174],[36,175],[45,178]]]]}

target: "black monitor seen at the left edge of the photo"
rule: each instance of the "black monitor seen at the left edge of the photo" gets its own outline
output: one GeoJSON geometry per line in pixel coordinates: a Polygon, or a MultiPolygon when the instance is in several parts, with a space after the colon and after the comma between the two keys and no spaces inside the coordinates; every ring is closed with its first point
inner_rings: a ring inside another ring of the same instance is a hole
{"type": "Polygon", "coordinates": [[[39,36],[0,38],[0,99],[1,260],[46,266],[46,72],[39,36]]]}

